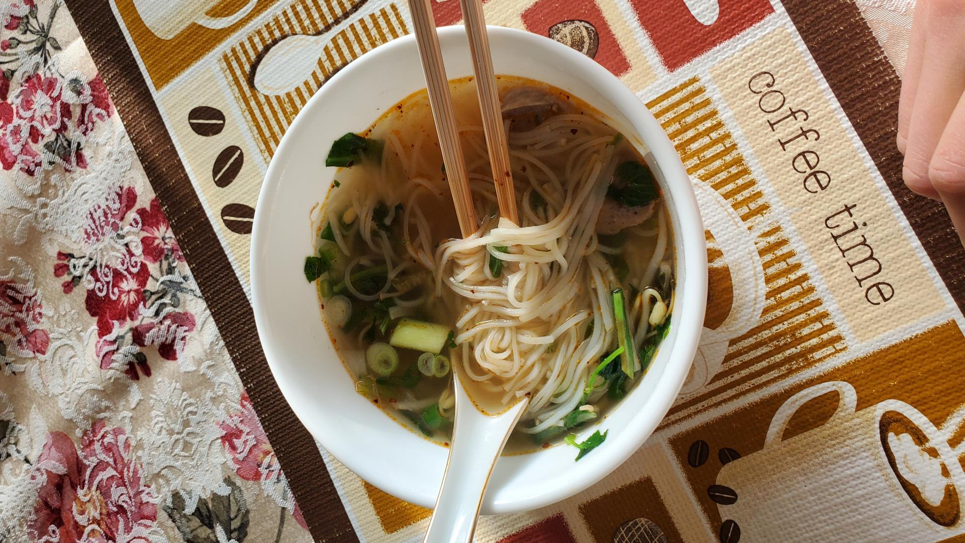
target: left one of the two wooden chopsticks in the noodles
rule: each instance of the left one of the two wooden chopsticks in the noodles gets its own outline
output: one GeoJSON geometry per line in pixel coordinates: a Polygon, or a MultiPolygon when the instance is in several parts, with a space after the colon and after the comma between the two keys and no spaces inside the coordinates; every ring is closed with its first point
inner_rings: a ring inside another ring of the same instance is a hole
{"type": "Polygon", "coordinates": [[[412,25],[415,27],[416,43],[422,58],[423,71],[426,72],[428,103],[432,108],[435,130],[439,133],[439,148],[442,162],[446,165],[449,188],[453,192],[455,215],[459,219],[459,229],[466,238],[476,232],[476,208],[469,189],[469,176],[466,174],[466,159],[459,144],[459,132],[455,126],[453,96],[449,92],[449,79],[442,62],[439,36],[432,20],[430,0],[409,0],[412,12],[412,25]]]}

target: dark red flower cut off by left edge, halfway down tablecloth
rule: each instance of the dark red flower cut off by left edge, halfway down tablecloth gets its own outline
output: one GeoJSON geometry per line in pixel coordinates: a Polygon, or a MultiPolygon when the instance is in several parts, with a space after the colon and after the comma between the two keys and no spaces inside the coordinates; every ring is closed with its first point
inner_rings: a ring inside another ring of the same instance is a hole
{"type": "Polygon", "coordinates": [[[45,355],[50,334],[41,329],[43,305],[37,290],[25,283],[0,281],[0,336],[13,339],[21,354],[45,355]]]}

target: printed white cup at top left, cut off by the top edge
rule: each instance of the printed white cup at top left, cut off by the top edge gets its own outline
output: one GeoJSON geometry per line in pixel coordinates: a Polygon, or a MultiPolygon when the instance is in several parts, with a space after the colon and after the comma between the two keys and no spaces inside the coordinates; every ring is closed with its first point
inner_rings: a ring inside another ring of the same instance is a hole
{"type": "Polygon", "coordinates": [[[144,24],[161,40],[171,40],[191,23],[210,29],[227,28],[251,13],[258,0],[249,0],[234,14],[214,17],[207,12],[221,0],[134,0],[144,24]]]}

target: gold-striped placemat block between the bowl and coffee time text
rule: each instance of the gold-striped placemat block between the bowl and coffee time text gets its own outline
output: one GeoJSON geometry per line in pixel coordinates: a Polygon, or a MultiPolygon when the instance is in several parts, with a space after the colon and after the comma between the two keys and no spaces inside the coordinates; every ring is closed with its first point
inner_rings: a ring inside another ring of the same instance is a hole
{"type": "MultiPolygon", "coordinates": [[[[667,426],[785,379],[847,346],[700,80],[691,78],[647,106],[667,130],[687,172],[723,196],[755,236],[767,289],[758,326],[731,340],[720,372],[697,395],[676,403],[662,423],[667,426]]],[[[708,247],[713,280],[713,268],[724,262],[714,243],[708,247]]],[[[729,273],[719,276],[731,287],[729,273]]]]}

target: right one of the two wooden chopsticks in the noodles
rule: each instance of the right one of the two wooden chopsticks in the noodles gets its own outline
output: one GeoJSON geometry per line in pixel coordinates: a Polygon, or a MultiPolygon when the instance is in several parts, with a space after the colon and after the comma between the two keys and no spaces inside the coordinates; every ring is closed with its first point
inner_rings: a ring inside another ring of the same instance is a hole
{"type": "Polygon", "coordinates": [[[476,71],[476,88],[483,111],[483,131],[485,145],[492,164],[492,179],[496,184],[496,198],[499,201],[499,214],[519,224],[516,211],[516,195],[512,189],[512,169],[510,168],[510,146],[506,142],[503,126],[503,112],[499,103],[499,89],[496,88],[496,75],[492,68],[492,55],[489,53],[489,36],[486,33],[482,0],[459,0],[463,24],[469,36],[469,50],[473,55],[473,70],[476,71]]]}

